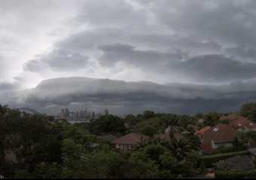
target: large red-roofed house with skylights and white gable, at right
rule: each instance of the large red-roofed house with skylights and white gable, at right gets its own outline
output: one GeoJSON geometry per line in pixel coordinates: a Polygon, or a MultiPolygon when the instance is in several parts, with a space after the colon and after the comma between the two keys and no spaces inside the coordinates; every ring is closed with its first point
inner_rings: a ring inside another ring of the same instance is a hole
{"type": "Polygon", "coordinates": [[[203,154],[218,152],[221,146],[231,147],[237,130],[229,124],[217,124],[203,133],[201,138],[201,150],[203,154]]]}

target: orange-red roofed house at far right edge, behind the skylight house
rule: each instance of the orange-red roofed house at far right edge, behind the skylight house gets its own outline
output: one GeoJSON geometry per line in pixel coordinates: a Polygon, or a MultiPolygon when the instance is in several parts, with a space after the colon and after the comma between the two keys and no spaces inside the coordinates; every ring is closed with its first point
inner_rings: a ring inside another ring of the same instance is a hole
{"type": "Polygon", "coordinates": [[[231,122],[230,126],[239,131],[256,131],[256,123],[254,121],[248,120],[247,118],[238,118],[231,122]]]}

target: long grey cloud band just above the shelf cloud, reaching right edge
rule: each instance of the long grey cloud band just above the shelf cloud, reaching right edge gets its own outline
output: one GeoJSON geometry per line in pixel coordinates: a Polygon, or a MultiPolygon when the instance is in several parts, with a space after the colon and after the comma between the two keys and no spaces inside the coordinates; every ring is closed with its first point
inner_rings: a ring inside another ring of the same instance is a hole
{"type": "Polygon", "coordinates": [[[104,52],[99,60],[106,66],[126,62],[140,68],[184,74],[194,77],[198,82],[225,82],[256,77],[256,64],[239,62],[224,55],[198,55],[187,58],[187,54],[181,51],[175,54],[141,51],[124,44],[99,46],[99,49],[104,52]]]}

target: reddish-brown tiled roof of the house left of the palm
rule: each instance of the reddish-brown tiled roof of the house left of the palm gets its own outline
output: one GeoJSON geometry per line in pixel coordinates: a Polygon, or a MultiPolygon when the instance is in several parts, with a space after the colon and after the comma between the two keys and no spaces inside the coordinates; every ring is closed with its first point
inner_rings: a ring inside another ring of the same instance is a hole
{"type": "Polygon", "coordinates": [[[139,145],[141,142],[148,141],[149,136],[141,135],[139,133],[128,133],[125,136],[120,136],[118,139],[114,139],[113,144],[127,144],[127,145],[139,145]]]}

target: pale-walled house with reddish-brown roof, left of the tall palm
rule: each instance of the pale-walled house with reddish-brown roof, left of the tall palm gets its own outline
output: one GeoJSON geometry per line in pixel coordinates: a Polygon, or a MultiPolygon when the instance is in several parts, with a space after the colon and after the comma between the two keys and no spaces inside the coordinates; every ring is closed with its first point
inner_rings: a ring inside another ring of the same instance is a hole
{"type": "Polygon", "coordinates": [[[111,143],[117,150],[135,151],[139,145],[148,142],[149,136],[145,136],[139,133],[128,133],[125,136],[114,139],[111,143]]]}

